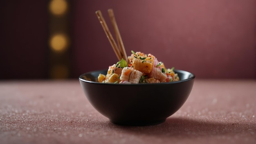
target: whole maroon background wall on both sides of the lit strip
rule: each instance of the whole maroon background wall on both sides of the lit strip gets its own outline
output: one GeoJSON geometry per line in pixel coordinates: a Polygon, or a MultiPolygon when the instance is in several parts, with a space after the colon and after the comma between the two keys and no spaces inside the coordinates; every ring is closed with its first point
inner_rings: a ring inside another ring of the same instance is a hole
{"type": "MultiPolygon", "coordinates": [[[[24,75],[19,78],[45,78],[47,3],[37,2],[33,14],[28,9],[33,3],[17,2],[14,8],[6,8],[11,2],[0,2],[5,20],[0,22],[4,68],[0,78],[15,78],[17,72],[24,75]]],[[[101,10],[112,31],[109,8],[115,12],[128,54],[130,50],[151,53],[166,67],[193,72],[198,79],[256,78],[255,0],[76,0],[70,4],[70,78],[117,62],[95,15],[101,10]]]]}

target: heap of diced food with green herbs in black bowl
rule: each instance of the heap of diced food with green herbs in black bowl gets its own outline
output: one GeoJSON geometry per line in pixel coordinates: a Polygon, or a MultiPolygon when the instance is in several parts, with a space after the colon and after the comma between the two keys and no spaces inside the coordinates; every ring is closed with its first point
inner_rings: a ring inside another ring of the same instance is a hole
{"type": "Polygon", "coordinates": [[[121,59],[116,64],[108,67],[107,74],[99,74],[101,83],[163,83],[179,81],[180,78],[173,68],[166,68],[164,63],[158,61],[152,54],[134,52],[128,57],[128,61],[121,59]]]}

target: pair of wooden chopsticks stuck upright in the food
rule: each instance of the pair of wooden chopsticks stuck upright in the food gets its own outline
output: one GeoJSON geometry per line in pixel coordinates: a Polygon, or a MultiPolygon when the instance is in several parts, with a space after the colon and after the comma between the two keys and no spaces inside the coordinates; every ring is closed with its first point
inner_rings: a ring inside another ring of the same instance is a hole
{"type": "Polygon", "coordinates": [[[119,33],[119,29],[118,29],[118,26],[117,26],[117,22],[115,20],[115,15],[114,15],[114,12],[112,9],[108,9],[108,15],[110,17],[110,21],[112,23],[112,26],[114,28],[114,31],[115,31],[115,35],[116,35],[116,38],[117,38],[117,42],[118,42],[118,46],[115,42],[115,39],[112,37],[109,29],[108,29],[108,25],[106,24],[104,18],[103,18],[103,15],[101,13],[100,10],[96,11],[95,12],[98,19],[99,19],[99,22],[101,23],[101,26],[103,28],[103,30],[105,31],[107,37],[108,37],[108,40],[115,52],[115,54],[117,55],[117,58],[118,60],[121,60],[122,58],[124,60],[126,60],[128,62],[128,58],[127,58],[127,55],[126,55],[126,50],[124,49],[124,44],[123,44],[123,41],[121,39],[121,35],[119,33]]]}

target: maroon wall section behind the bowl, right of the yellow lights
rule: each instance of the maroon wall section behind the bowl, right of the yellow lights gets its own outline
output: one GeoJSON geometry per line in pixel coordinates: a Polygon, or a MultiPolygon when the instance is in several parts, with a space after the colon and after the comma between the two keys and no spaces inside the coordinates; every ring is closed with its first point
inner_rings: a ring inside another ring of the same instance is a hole
{"type": "MultiPolygon", "coordinates": [[[[74,75],[117,62],[95,11],[112,8],[127,53],[152,53],[197,78],[255,78],[255,0],[93,0],[73,7],[74,75]]],[[[112,30],[112,29],[111,29],[112,30]]]]}

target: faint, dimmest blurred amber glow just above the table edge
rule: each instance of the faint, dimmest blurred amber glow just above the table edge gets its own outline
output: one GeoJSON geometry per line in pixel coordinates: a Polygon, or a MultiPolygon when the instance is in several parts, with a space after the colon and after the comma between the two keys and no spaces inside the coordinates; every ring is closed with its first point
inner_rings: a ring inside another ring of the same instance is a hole
{"type": "Polygon", "coordinates": [[[69,71],[66,65],[55,65],[51,70],[52,79],[67,79],[69,71]]]}

